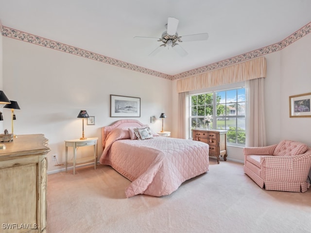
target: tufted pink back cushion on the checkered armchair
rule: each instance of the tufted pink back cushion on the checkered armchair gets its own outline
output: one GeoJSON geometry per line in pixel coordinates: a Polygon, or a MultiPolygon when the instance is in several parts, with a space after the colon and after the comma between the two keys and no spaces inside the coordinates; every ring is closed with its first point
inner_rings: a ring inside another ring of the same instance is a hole
{"type": "Polygon", "coordinates": [[[290,140],[283,140],[276,146],[273,155],[276,156],[293,156],[303,154],[308,149],[307,145],[290,140]]]}

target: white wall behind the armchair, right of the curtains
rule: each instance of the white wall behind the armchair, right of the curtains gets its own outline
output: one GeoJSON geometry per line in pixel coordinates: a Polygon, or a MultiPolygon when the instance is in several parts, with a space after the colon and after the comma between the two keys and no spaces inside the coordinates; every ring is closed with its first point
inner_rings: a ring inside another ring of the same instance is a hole
{"type": "Polygon", "coordinates": [[[281,139],[311,146],[311,118],[289,117],[289,96],[311,92],[311,34],[281,51],[280,89],[281,139]]]}

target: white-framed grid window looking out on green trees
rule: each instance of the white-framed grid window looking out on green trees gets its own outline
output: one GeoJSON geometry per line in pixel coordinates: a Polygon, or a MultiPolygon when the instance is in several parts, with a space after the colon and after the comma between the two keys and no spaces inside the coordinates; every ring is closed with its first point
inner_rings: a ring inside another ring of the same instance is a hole
{"type": "MultiPolygon", "coordinates": [[[[227,143],[245,145],[245,88],[190,95],[191,129],[206,128],[205,117],[211,116],[211,129],[227,130],[227,143]]],[[[192,135],[191,135],[192,137],[192,135]]]]}

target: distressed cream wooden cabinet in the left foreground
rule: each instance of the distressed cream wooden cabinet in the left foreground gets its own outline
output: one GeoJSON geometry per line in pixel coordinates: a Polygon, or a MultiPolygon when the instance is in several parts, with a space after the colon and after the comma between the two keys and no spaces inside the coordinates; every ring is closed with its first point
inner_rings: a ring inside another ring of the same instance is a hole
{"type": "Polygon", "coordinates": [[[17,135],[0,149],[0,232],[45,233],[47,153],[43,134],[17,135]]]}

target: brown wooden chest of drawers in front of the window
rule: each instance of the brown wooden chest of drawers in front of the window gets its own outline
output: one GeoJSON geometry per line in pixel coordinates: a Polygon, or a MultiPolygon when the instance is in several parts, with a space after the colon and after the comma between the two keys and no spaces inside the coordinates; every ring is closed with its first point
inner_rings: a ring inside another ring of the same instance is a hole
{"type": "Polygon", "coordinates": [[[208,156],[216,157],[219,164],[219,157],[227,159],[226,130],[192,130],[193,140],[207,143],[209,145],[208,156]]]}

